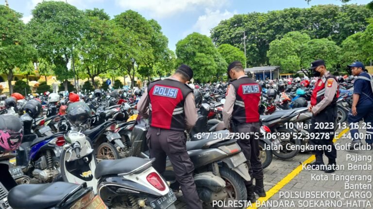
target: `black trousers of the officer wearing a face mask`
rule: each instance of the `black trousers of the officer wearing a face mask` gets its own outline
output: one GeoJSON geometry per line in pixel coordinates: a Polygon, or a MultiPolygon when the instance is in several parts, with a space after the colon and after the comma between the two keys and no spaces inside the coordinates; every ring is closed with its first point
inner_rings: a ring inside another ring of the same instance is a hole
{"type": "Polygon", "coordinates": [[[329,149],[313,150],[315,155],[322,156],[322,154],[325,154],[325,156],[329,158],[329,161],[330,160],[335,161],[335,159],[337,158],[337,149],[333,143],[334,129],[331,126],[329,126],[330,129],[323,128],[323,127],[325,127],[326,123],[334,124],[336,119],[337,119],[337,106],[324,109],[316,116],[312,116],[311,126],[309,129],[310,134],[311,133],[315,134],[314,135],[315,137],[313,137],[313,139],[310,139],[310,143],[312,145],[326,145],[326,146],[329,145],[328,147],[331,147],[331,150],[329,149]],[[327,135],[329,138],[326,138],[327,135]]]}

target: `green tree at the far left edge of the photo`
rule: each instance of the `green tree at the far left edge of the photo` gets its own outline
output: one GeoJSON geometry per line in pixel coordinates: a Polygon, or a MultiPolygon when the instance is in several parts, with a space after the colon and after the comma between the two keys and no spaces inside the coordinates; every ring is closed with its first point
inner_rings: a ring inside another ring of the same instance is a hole
{"type": "Polygon", "coordinates": [[[21,17],[0,5],[0,71],[8,77],[10,93],[13,93],[14,69],[30,63],[35,54],[34,47],[28,44],[28,33],[21,17]]]}

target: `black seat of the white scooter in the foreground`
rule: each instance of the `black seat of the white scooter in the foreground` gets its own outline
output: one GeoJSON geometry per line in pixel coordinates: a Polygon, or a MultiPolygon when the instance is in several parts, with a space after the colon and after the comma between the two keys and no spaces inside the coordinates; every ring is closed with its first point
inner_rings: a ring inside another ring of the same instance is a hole
{"type": "MultiPolygon", "coordinates": [[[[102,176],[134,172],[137,168],[149,162],[151,162],[151,160],[138,157],[128,157],[119,160],[103,160],[96,166],[95,178],[100,179],[102,176]]],[[[152,164],[149,164],[149,166],[151,165],[152,164]]],[[[147,167],[148,166],[145,166],[144,168],[147,167]]]]}

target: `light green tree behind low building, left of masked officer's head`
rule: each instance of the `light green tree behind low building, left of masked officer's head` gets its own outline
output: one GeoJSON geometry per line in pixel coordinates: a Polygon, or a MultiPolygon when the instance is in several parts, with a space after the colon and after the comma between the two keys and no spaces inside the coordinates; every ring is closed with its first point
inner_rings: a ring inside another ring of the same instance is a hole
{"type": "Polygon", "coordinates": [[[280,66],[283,72],[295,73],[301,69],[302,45],[310,41],[307,34],[297,31],[271,42],[267,56],[271,65],[280,66]]]}

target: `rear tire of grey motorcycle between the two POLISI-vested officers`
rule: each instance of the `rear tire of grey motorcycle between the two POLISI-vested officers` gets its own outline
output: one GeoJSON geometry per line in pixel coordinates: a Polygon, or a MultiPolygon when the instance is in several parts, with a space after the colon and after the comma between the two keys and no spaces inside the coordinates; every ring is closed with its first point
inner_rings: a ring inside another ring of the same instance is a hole
{"type": "MultiPolygon", "coordinates": [[[[220,167],[220,177],[226,182],[226,186],[232,186],[234,194],[236,194],[234,200],[242,201],[247,200],[247,191],[242,179],[236,172],[226,167],[220,167]],[[229,185],[230,184],[230,185],[229,185]]],[[[229,193],[228,193],[229,194],[229,193]]]]}

